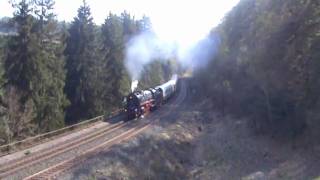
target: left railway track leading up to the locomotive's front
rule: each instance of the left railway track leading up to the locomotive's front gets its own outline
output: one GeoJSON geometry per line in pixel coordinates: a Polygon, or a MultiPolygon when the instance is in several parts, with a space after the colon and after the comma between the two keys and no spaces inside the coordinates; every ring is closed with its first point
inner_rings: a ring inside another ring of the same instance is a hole
{"type": "Polygon", "coordinates": [[[88,134],[84,134],[84,136],[79,137],[77,139],[72,139],[69,141],[66,141],[63,144],[60,144],[58,146],[55,146],[54,148],[46,148],[41,150],[40,152],[37,152],[36,154],[31,154],[26,157],[22,157],[19,159],[15,159],[12,161],[9,161],[5,164],[5,166],[2,166],[0,168],[0,179],[6,178],[11,174],[14,174],[18,172],[21,169],[24,169],[26,167],[32,166],[36,163],[45,161],[47,159],[50,159],[54,156],[60,155],[62,153],[65,153],[67,151],[71,151],[73,149],[76,149],[77,147],[84,145],[86,143],[92,142],[98,138],[101,138],[103,136],[106,136],[107,134],[110,134],[117,129],[120,129],[124,127],[126,123],[119,122],[116,124],[110,124],[108,126],[105,126],[98,131],[94,131],[88,134]]]}

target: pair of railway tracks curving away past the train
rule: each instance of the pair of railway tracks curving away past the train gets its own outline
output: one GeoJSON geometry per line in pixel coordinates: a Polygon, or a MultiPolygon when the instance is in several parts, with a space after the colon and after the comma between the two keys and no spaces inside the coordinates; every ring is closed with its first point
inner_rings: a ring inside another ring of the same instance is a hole
{"type": "MultiPolygon", "coordinates": [[[[36,154],[32,154],[23,158],[18,158],[6,163],[6,166],[2,166],[0,168],[0,179],[9,178],[10,175],[13,175],[19,172],[22,169],[28,168],[32,165],[36,165],[40,162],[45,162],[50,158],[55,156],[59,156],[63,153],[68,151],[72,151],[77,149],[82,145],[89,144],[90,142],[97,141],[99,138],[102,137],[109,137],[103,143],[90,147],[88,146],[88,150],[82,151],[79,154],[68,157],[59,161],[59,163],[55,163],[52,166],[49,166],[47,169],[40,170],[25,179],[51,179],[56,175],[70,169],[71,167],[75,166],[79,162],[86,159],[88,156],[92,156],[95,153],[101,151],[102,149],[108,149],[112,145],[118,144],[125,140],[128,140],[131,137],[136,136],[137,134],[141,133],[145,129],[147,129],[152,123],[156,122],[152,119],[157,117],[162,117],[172,113],[173,110],[178,107],[186,98],[187,96],[187,88],[185,80],[182,80],[180,83],[180,90],[171,101],[169,101],[166,105],[164,105],[161,109],[156,111],[155,113],[150,114],[147,118],[138,121],[129,121],[127,123],[124,122],[117,122],[115,124],[108,124],[105,127],[98,129],[97,131],[93,131],[83,136],[66,141],[62,144],[55,146],[55,148],[47,148],[44,149],[36,154]],[[131,127],[130,127],[131,126],[131,127]],[[118,131],[123,132],[118,132],[118,131]],[[115,136],[111,134],[116,133],[115,136]]],[[[159,119],[157,119],[159,120],[159,119]]]]}

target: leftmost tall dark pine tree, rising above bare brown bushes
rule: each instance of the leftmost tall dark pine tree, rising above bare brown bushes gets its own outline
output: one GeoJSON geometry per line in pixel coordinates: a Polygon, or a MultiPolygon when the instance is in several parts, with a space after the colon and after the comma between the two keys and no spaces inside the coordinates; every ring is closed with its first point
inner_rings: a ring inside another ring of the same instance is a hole
{"type": "MultiPolygon", "coordinates": [[[[16,86],[25,92],[25,96],[32,91],[30,83],[35,68],[36,58],[36,34],[33,32],[35,23],[31,15],[30,3],[22,0],[14,5],[17,11],[14,14],[14,21],[17,23],[18,36],[11,38],[8,47],[8,55],[5,61],[7,84],[16,86]]],[[[22,101],[23,102],[23,101],[22,101]]]]}

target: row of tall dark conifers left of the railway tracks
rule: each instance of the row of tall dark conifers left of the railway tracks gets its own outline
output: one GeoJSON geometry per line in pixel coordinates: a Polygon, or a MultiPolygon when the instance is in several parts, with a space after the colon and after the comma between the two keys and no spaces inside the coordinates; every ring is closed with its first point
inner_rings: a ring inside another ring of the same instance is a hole
{"type": "Polygon", "coordinates": [[[109,13],[98,26],[84,1],[71,23],[58,22],[54,4],[13,4],[16,35],[0,40],[0,144],[108,113],[130,91],[125,45],[149,19],[109,13]]]}

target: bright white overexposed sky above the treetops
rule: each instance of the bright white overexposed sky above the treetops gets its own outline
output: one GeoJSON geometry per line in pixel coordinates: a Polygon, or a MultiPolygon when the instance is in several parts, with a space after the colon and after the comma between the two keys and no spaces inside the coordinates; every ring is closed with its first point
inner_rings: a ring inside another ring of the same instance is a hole
{"type": "MultiPolygon", "coordinates": [[[[0,0],[0,17],[12,16],[9,0],[0,0]]],[[[124,10],[136,19],[150,17],[156,34],[165,41],[193,44],[218,25],[239,0],[87,0],[96,24],[109,12],[124,10]]],[[[56,0],[59,20],[72,21],[82,0],[56,0]]]]}

